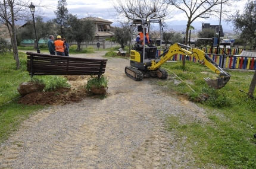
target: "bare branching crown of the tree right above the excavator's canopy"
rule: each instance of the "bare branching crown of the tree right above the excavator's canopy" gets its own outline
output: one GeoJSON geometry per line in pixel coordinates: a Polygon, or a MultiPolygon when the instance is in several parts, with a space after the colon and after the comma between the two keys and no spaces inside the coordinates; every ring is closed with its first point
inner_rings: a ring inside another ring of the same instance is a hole
{"type": "Polygon", "coordinates": [[[161,0],[111,0],[120,17],[129,20],[134,18],[167,18],[170,17],[168,4],[161,0]]]}

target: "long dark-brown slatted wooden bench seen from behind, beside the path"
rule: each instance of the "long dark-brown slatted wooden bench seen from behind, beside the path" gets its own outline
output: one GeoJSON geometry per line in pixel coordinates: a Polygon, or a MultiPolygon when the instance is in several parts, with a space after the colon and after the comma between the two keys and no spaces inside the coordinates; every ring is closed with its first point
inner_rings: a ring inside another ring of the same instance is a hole
{"type": "Polygon", "coordinates": [[[108,59],[76,58],[27,52],[27,71],[33,75],[98,75],[105,73],[108,59]]]}

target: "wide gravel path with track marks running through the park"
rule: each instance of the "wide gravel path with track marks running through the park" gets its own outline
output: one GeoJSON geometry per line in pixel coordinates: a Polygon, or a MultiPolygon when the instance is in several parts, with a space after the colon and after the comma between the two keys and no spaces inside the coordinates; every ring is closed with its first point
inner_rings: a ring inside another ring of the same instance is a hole
{"type": "Polygon", "coordinates": [[[51,106],[27,119],[1,145],[0,168],[197,168],[189,151],[164,129],[164,117],[204,120],[204,110],[165,94],[154,85],[158,78],[133,81],[125,66],[128,59],[108,58],[104,100],[51,106]]]}

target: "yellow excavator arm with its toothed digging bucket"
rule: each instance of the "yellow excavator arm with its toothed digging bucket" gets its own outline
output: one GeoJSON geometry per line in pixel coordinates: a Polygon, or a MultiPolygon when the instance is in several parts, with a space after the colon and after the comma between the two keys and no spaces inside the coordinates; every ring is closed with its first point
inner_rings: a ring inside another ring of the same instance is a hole
{"type": "Polygon", "coordinates": [[[175,43],[172,46],[170,46],[162,55],[159,56],[160,61],[156,62],[155,60],[152,60],[151,66],[148,66],[148,69],[156,70],[160,68],[160,66],[163,65],[163,63],[165,63],[167,60],[173,58],[174,55],[182,54],[195,57],[199,60],[199,63],[207,66],[209,69],[211,69],[213,72],[219,75],[218,78],[215,80],[210,78],[204,78],[209,87],[220,89],[227,84],[231,75],[224,72],[223,69],[221,69],[220,66],[218,66],[217,63],[214,62],[214,60],[207,55],[207,53],[196,48],[192,48],[192,51],[189,51],[182,47],[191,48],[184,44],[175,43]]]}

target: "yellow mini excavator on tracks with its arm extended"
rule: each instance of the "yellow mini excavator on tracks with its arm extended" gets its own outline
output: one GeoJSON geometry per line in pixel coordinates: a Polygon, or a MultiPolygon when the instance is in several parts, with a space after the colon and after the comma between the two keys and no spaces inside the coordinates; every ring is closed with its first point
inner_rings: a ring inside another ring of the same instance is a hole
{"type": "MultiPolygon", "coordinates": [[[[138,31],[144,31],[143,27],[148,26],[150,23],[160,23],[160,34],[162,21],[161,20],[147,20],[139,18],[133,20],[133,26],[138,25],[138,31]]],[[[143,33],[145,34],[145,33],[143,33]]],[[[145,39],[145,38],[144,38],[145,39]]],[[[160,40],[161,46],[161,40],[160,40]]],[[[230,79],[230,74],[227,74],[214,62],[210,56],[204,51],[196,48],[191,48],[184,44],[175,43],[156,58],[157,47],[152,44],[135,44],[130,50],[130,66],[124,69],[125,74],[135,81],[141,81],[144,76],[158,76],[158,78],[166,79],[168,76],[167,71],[161,69],[161,65],[167,60],[173,58],[176,54],[192,56],[199,60],[200,63],[210,68],[213,72],[218,74],[218,78],[213,80],[204,78],[208,86],[215,89],[220,89],[227,84],[230,79]],[[191,51],[187,50],[191,49],[191,51]]]]}

